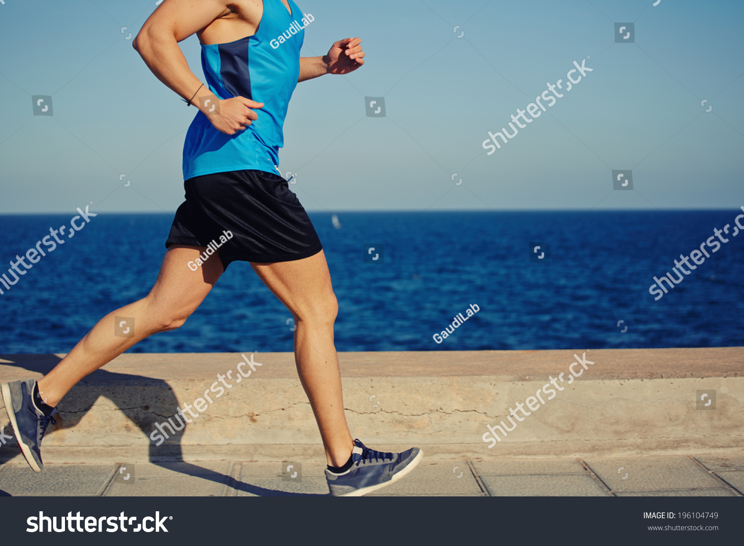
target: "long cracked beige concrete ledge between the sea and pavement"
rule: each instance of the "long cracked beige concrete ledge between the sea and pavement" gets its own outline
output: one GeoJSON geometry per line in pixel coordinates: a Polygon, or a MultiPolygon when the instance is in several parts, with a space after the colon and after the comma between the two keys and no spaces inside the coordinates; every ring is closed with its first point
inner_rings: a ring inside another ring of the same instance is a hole
{"type": "MultiPolygon", "coordinates": [[[[584,352],[339,353],[352,434],[377,449],[417,445],[443,457],[744,449],[744,347],[591,350],[586,358],[594,364],[568,385],[574,353],[584,352]],[[558,385],[565,390],[551,400],[544,396],[545,405],[489,449],[481,439],[486,425],[508,424],[516,402],[524,403],[560,373],[565,382],[558,385]],[[714,410],[696,409],[699,390],[716,391],[714,410]]],[[[62,356],[0,356],[0,381],[38,378],[62,356]]],[[[257,353],[254,360],[263,365],[237,382],[240,353],[122,355],[62,401],[58,424],[44,440],[45,460],[321,458],[292,353],[257,353]],[[218,397],[217,374],[228,370],[231,379],[225,381],[232,387],[218,397]],[[149,437],[155,423],[197,398],[208,408],[192,409],[200,416],[155,446],[149,437]]],[[[248,364],[242,369],[251,370],[248,364]]],[[[16,455],[16,446],[0,446],[0,460],[16,455]]]]}

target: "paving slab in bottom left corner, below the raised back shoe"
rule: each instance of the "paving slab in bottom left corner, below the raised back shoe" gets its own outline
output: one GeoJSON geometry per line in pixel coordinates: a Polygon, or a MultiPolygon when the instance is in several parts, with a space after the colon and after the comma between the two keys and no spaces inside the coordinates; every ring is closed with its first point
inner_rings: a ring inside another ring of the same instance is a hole
{"type": "Polygon", "coordinates": [[[3,465],[0,468],[0,495],[13,496],[89,496],[97,495],[114,472],[114,466],[59,464],[44,466],[33,472],[24,464],[3,465]]]}

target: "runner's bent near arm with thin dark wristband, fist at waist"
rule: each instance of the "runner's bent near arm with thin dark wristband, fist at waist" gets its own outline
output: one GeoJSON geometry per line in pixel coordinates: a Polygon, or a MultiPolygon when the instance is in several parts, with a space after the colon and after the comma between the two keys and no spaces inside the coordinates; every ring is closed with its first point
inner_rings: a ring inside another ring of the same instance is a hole
{"type": "MultiPolygon", "coordinates": [[[[185,100],[199,108],[199,98],[213,96],[207,86],[196,77],[186,62],[178,42],[202,30],[214,19],[228,13],[231,0],[166,0],[142,25],[142,29],[132,42],[155,77],[176,91],[185,100]],[[199,91],[197,91],[199,89],[199,91]],[[196,95],[194,95],[196,93],[196,95]]],[[[260,108],[246,97],[235,97],[219,101],[219,114],[210,115],[210,121],[228,135],[246,129],[251,120],[257,119],[251,108],[260,108]]],[[[201,107],[207,114],[207,108],[201,107]]]]}

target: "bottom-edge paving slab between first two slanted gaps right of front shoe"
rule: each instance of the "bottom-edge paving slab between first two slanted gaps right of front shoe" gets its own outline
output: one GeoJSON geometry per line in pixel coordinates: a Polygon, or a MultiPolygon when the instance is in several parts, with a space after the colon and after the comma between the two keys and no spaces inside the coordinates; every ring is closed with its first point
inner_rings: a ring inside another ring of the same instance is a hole
{"type": "Polygon", "coordinates": [[[608,496],[589,475],[481,476],[492,497],[608,496]]]}

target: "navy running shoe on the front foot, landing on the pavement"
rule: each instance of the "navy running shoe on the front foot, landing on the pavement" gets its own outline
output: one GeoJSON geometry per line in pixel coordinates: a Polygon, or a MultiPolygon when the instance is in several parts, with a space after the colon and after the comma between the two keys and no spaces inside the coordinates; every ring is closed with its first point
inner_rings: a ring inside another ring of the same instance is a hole
{"type": "Polygon", "coordinates": [[[402,453],[376,452],[354,440],[353,465],[343,474],[326,469],[330,494],[334,497],[361,497],[393,484],[411,472],[423,457],[417,447],[402,453]]]}

